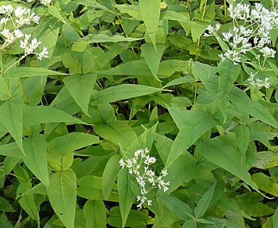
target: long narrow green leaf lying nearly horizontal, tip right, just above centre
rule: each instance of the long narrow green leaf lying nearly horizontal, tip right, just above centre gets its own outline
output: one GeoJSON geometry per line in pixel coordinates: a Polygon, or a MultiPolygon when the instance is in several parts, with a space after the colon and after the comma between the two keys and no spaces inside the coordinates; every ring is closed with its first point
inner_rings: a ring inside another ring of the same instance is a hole
{"type": "Polygon", "coordinates": [[[142,95],[148,95],[161,91],[161,88],[150,86],[141,86],[133,84],[122,84],[105,88],[96,93],[92,105],[100,105],[102,103],[110,103],[116,100],[125,100],[128,98],[136,98],[142,95]]]}

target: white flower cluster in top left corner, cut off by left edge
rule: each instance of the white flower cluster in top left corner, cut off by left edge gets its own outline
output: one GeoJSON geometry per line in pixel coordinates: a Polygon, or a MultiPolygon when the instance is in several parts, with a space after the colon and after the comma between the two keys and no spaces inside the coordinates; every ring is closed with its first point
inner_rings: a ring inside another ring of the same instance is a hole
{"type": "Polygon", "coordinates": [[[16,6],[14,9],[11,5],[2,5],[0,6],[0,34],[4,38],[4,42],[0,45],[1,50],[5,50],[6,47],[9,47],[14,44],[14,41],[18,38],[24,37],[24,40],[20,40],[19,47],[24,49],[25,58],[29,54],[35,54],[39,60],[43,57],[48,57],[48,50],[46,47],[43,47],[43,51],[36,52],[36,48],[41,44],[41,41],[38,41],[37,38],[31,39],[31,34],[24,34],[20,28],[24,25],[30,25],[32,22],[38,24],[40,17],[32,13],[30,9],[16,6]],[[14,29],[10,30],[7,27],[7,24],[12,24],[14,29]]]}

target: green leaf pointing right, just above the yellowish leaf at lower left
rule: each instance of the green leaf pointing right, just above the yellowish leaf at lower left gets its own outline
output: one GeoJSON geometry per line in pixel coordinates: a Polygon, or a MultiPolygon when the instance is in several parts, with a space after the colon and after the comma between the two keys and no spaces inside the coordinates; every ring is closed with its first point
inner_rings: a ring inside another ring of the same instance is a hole
{"type": "Polygon", "coordinates": [[[96,135],[86,133],[69,133],[61,137],[54,138],[47,145],[47,150],[66,155],[82,147],[101,142],[96,135]]]}

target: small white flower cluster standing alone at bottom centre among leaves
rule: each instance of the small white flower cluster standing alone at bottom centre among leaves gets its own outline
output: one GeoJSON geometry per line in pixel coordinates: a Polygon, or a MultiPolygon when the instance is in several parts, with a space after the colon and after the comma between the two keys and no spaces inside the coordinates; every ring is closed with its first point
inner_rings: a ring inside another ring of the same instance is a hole
{"type": "Polygon", "coordinates": [[[130,175],[135,175],[135,179],[138,182],[140,187],[140,194],[137,196],[138,206],[142,209],[143,204],[147,202],[148,206],[152,204],[152,201],[148,199],[147,194],[147,183],[151,185],[151,187],[158,187],[159,189],[163,189],[164,192],[168,191],[168,185],[170,182],[165,182],[163,177],[168,175],[167,170],[163,170],[160,173],[160,176],[156,177],[155,172],[150,169],[150,165],[156,162],[155,157],[151,157],[148,155],[149,150],[145,148],[145,150],[140,149],[134,152],[134,157],[132,159],[123,160],[120,159],[120,167],[123,169],[124,167],[128,168],[128,172],[130,175]]]}

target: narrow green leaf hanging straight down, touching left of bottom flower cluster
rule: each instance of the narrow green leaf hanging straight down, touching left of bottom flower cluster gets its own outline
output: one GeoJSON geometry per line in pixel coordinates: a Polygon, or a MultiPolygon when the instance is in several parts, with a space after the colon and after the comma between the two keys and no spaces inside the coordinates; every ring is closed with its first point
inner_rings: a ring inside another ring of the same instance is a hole
{"type": "Polygon", "coordinates": [[[130,212],[131,206],[135,195],[131,190],[130,175],[128,174],[128,169],[120,170],[118,173],[118,192],[119,192],[119,204],[120,204],[120,214],[123,219],[123,227],[125,227],[126,220],[128,219],[128,214],[130,212]]]}

